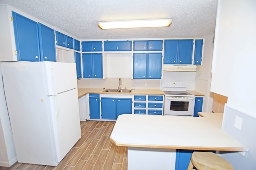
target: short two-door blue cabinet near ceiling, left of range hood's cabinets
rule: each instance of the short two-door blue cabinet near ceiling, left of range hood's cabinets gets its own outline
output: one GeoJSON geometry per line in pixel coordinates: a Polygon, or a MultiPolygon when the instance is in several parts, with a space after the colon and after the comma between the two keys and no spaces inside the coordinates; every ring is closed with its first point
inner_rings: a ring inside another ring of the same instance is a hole
{"type": "Polygon", "coordinates": [[[162,40],[133,41],[133,51],[162,51],[162,40]]]}

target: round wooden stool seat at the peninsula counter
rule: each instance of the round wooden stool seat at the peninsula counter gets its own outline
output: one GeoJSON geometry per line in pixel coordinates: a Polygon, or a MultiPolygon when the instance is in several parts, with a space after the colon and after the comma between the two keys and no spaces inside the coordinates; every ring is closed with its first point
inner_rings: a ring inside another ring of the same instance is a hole
{"type": "Polygon", "coordinates": [[[221,156],[213,152],[193,152],[188,170],[234,170],[232,165],[221,156]]]}

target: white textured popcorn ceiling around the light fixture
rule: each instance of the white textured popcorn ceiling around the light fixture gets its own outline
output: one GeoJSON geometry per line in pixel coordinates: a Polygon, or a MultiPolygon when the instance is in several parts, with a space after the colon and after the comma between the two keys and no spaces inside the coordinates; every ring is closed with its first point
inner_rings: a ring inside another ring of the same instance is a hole
{"type": "Polygon", "coordinates": [[[217,0],[0,0],[79,39],[182,38],[214,33],[217,0]],[[172,18],[170,27],[101,30],[98,21],[172,18]]]}

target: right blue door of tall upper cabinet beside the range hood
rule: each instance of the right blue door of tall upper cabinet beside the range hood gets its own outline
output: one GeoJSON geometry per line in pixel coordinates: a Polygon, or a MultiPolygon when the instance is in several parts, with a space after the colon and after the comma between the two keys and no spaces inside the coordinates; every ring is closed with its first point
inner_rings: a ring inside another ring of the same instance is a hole
{"type": "Polygon", "coordinates": [[[148,79],[161,79],[162,53],[148,53],[148,79]]]}

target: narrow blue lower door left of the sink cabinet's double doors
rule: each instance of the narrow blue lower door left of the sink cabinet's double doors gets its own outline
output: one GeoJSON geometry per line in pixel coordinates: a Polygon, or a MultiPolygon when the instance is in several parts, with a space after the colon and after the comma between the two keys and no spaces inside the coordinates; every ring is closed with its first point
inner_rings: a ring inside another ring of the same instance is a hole
{"type": "Polygon", "coordinates": [[[89,97],[90,119],[100,119],[100,98],[89,97]]]}

